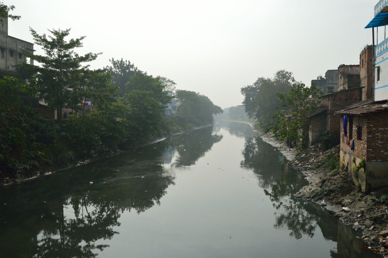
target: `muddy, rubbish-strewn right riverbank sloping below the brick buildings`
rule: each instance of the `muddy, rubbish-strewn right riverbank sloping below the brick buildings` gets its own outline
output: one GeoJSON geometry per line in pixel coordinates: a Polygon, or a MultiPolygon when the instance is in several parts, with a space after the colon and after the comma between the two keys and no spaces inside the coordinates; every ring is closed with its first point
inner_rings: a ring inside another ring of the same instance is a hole
{"type": "Polygon", "coordinates": [[[388,257],[388,206],[384,195],[388,187],[365,195],[354,185],[350,171],[332,169],[330,163],[337,159],[339,163],[339,145],[324,151],[321,144],[315,144],[297,155],[296,149],[288,148],[275,139],[272,133],[255,131],[265,142],[278,147],[289,160],[288,165],[305,175],[310,183],[294,197],[312,201],[319,206],[324,201],[324,207],[333,216],[362,232],[361,238],[366,248],[388,257]]]}

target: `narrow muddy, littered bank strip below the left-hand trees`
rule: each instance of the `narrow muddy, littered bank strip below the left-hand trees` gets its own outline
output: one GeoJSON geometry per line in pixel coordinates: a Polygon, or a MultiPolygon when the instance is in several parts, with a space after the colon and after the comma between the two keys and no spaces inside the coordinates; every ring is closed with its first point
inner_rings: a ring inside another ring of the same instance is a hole
{"type": "Polygon", "coordinates": [[[76,160],[76,161],[71,162],[69,164],[55,165],[55,166],[51,166],[49,168],[45,168],[44,170],[36,170],[36,171],[31,172],[28,177],[21,177],[21,176],[20,177],[15,177],[15,178],[0,177],[0,186],[7,186],[7,185],[12,185],[12,184],[20,184],[20,183],[23,183],[23,182],[28,181],[28,180],[32,180],[32,179],[35,179],[35,178],[38,178],[38,177],[43,177],[43,176],[46,176],[46,175],[51,175],[53,173],[58,173],[58,172],[61,172],[61,171],[64,171],[64,170],[68,170],[68,169],[74,168],[76,166],[82,166],[84,164],[88,164],[88,163],[91,163],[91,162],[94,162],[94,161],[98,161],[100,159],[105,159],[105,158],[117,156],[117,155],[120,155],[122,153],[127,152],[128,149],[136,149],[138,147],[142,147],[142,146],[145,146],[145,145],[154,144],[156,142],[160,142],[162,140],[165,140],[168,137],[173,137],[174,135],[178,135],[178,134],[185,133],[185,132],[190,132],[192,130],[196,130],[196,129],[199,129],[199,128],[204,128],[204,127],[207,127],[207,126],[212,126],[212,125],[215,125],[215,124],[217,124],[217,122],[212,123],[212,124],[208,124],[208,125],[192,127],[190,129],[187,129],[187,130],[181,130],[181,131],[178,131],[178,132],[173,132],[173,133],[170,133],[169,135],[166,135],[165,137],[150,138],[150,139],[148,139],[148,140],[146,140],[144,142],[141,142],[141,143],[139,143],[137,145],[126,145],[125,148],[122,148],[122,149],[111,149],[111,150],[106,151],[106,152],[98,153],[98,154],[96,154],[95,157],[79,159],[79,160],[76,160]]]}

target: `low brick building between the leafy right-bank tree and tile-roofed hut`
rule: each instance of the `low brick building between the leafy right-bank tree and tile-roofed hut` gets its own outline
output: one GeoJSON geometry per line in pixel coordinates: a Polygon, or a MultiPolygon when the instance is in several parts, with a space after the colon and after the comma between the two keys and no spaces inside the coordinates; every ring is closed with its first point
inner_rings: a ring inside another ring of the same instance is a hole
{"type": "Polygon", "coordinates": [[[360,102],[363,89],[363,87],[350,88],[348,90],[329,93],[322,97],[324,110],[317,111],[317,113],[308,116],[309,146],[320,142],[321,135],[326,130],[335,136],[337,142],[340,142],[340,128],[338,127],[340,117],[334,116],[334,112],[344,109],[353,103],[360,102]]]}

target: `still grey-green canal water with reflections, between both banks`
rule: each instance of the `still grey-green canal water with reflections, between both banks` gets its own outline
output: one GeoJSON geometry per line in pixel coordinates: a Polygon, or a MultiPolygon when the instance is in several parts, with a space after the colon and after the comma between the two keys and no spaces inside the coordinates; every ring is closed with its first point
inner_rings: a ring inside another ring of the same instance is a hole
{"type": "Polygon", "coordinates": [[[0,257],[380,257],[306,184],[222,121],[0,189],[0,257]]]}

